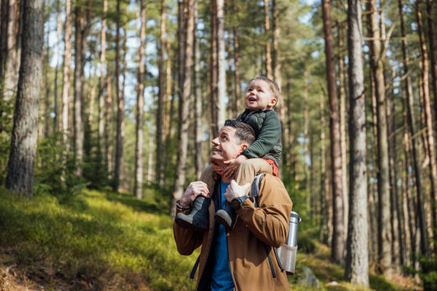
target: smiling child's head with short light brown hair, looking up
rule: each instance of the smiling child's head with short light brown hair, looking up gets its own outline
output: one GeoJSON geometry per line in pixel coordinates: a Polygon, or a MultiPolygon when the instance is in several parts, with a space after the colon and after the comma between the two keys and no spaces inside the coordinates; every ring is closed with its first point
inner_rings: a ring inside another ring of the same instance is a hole
{"type": "Polygon", "coordinates": [[[271,109],[275,106],[276,99],[271,91],[270,86],[266,81],[257,79],[249,83],[246,96],[244,96],[244,104],[246,108],[254,109],[271,109]]]}

